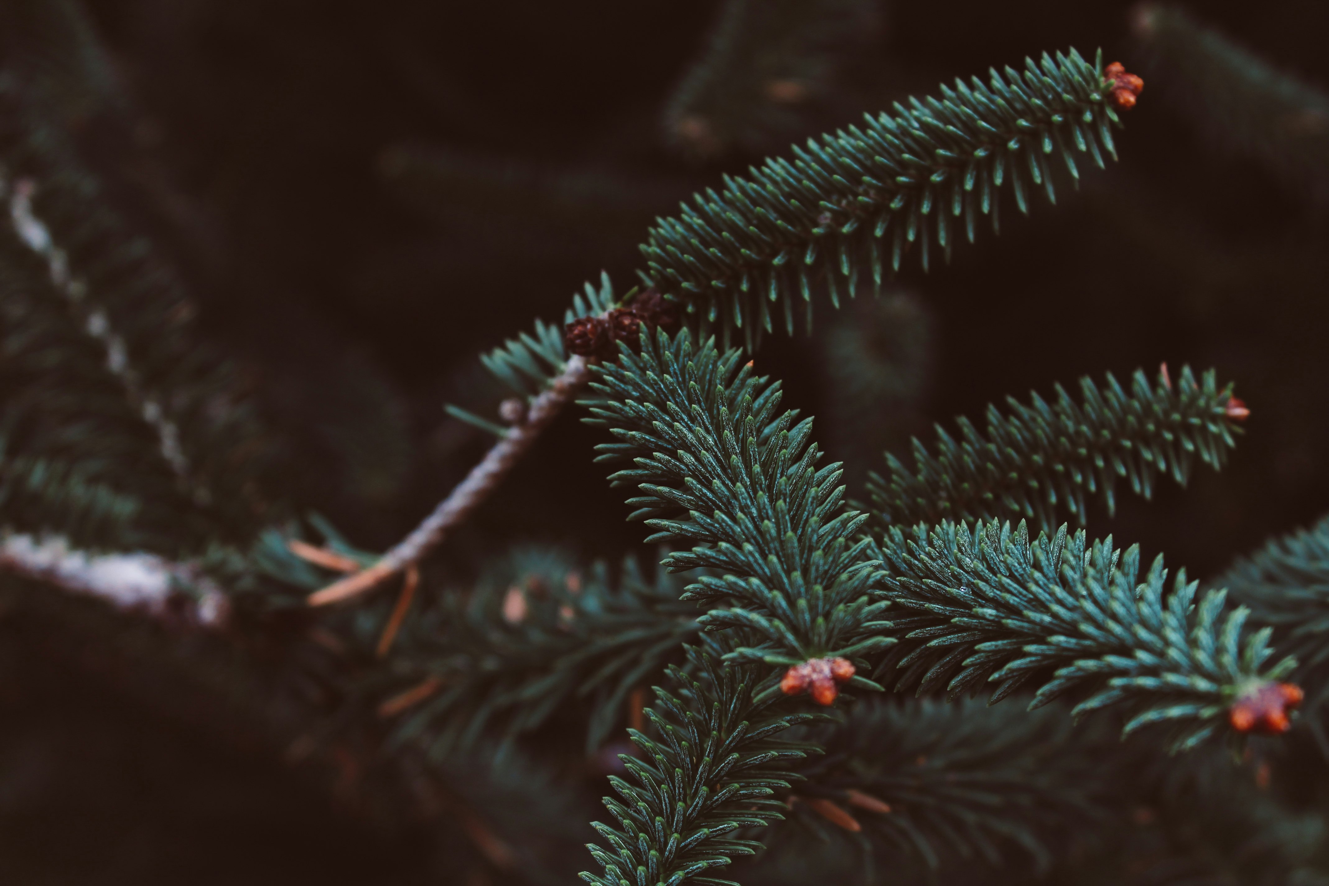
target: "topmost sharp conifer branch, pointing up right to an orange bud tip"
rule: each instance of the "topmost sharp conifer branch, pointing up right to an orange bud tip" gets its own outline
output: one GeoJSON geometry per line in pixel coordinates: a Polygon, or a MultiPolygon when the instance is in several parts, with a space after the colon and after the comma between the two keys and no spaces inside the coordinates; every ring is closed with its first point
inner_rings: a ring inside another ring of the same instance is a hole
{"type": "Polygon", "coordinates": [[[1007,179],[1021,213],[1030,189],[1055,202],[1054,154],[1075,181],[1076,154],[1102,167],[1103,151],[1116,155],[1112,105],[1130,106],[1139,92],[1128,90],[1127,104],[1119,86],[1100,58],[1090,65],[1073,49],[1038,64],[1027,58],[1025,72],[994,69],[986,85],[957,80],[941,88],[940,101],[896,104],[893,117],[868,116],[861,128],[809,139],[792,161],[767,161],[746,179],[726,177],[719,193],[707,190],[680,215],[661,219],[642,246],[642,276],[692,302],[724,340],[742,328],[748,349],[772,328],[776,302],[791,333],[796,300],[811,327],[819,278],[839,304],[840,287],[853,294],[868,274],[880,287],[886,260],[898,270],[914,242],[926,268],[932,243],[949,258],[961,224],[970,242],[978,215],[990,215],[995,228],[1007,179]]]}

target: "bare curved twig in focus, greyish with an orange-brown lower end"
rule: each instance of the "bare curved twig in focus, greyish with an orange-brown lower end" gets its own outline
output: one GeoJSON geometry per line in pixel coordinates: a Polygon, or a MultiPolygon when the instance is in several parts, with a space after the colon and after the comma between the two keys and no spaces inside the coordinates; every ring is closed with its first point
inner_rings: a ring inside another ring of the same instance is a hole
{"type": "Polygon", "coordinates": [[[457,484],[415,531],[369,569],[311,594],[310,606],[326,606],[359,596],[384,579],[419,563],[444,539],[448,530],[489,497],[521,456],[530,449],[540,432],[577,396],[589,379],[590,367],[586,360],[573,355],[549,388],[532,401],[525,421],[509,428],[504,438],[493,445],[480,464],[470,469],[466,478],[457,484]]]}

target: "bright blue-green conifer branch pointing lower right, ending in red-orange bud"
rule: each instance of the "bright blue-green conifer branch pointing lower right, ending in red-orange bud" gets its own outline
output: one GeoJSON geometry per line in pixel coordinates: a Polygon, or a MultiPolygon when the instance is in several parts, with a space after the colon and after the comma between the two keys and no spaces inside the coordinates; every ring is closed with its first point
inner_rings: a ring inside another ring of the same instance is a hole
{"type": "Polygon", "coordinates": [[[944,687],[954,697],[995,683],[998,701],[1037,677],[1039,707],[1091,685],[1076,716],[1126,703],[1135,708],[1127,733],[1170,721],[1176,749],[1224,720],[1239,732],[1282,732],[1300,700],[1277,684],[1292,659],[1265,667],[1269,628],[1243,640],[1249,611],[1225,610],[1221,591],[1196,600],[1184,570],[1168,590],[1162,557],[1142,578],[1138,546],[1090,545],[1065,527],[1030,542],[1025,523],[997,522],[890,529],[885,543],[881,596],[908,612],[893,619],[901,643],[881,665],[898,672],[897,688],[944,687]]]}

